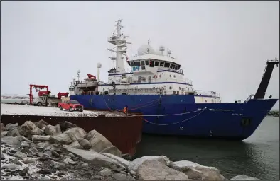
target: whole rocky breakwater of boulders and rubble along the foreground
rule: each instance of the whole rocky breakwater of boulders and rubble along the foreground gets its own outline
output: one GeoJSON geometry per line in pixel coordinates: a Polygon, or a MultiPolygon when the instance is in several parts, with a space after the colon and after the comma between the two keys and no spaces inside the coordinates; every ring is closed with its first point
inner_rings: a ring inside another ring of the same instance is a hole
{"type": "Polygon", "coordinates": [[[1,180],[227,180],[217,168],[188,160],[127,158],[96,130],[70,122],[1,123],[1,180]]]}

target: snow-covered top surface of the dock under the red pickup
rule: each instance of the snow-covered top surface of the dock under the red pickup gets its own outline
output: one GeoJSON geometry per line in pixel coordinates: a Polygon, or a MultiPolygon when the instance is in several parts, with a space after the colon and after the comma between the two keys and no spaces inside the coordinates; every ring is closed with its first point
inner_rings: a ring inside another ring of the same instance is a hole
{"type": "Polygon", "coordinates": [[[116,112],[87,111],[69,112],[59,110],[58,107],[37,107],[33,105],[1,104],[1,115],[42,115],[42,116],[69,116],[69,117],[97,117],[98,115],[122,116],[116,112]]]}

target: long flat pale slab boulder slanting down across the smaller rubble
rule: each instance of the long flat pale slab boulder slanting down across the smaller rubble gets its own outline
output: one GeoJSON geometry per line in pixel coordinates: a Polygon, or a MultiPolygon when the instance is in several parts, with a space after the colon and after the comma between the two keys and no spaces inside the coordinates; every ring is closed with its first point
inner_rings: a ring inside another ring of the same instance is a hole
{"type": "Polygon", "coordinates": [[[85,160],[85,162],[88,163],[100,165],[105,168],[111,168],[113,170],[119,170],[119,168],[125,168],[123,165],[117,162],[117,160],[104,156],[101,153],[97,153],[95,151],[80,150],[76,148],[70,148],[69,146],[64,146],[64,148],[66,148],[74,155],[80,156],[83,160],[85,160]]]}

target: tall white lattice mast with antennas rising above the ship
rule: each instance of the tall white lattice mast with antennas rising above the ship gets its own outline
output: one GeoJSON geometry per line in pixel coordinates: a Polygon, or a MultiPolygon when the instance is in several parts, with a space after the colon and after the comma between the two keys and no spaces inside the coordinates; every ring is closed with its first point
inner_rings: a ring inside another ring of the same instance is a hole
{"type": "Polygon", "coordinates": [[[122,33],[122,19],[117,20],[116,22],[117,33],[113,33],[112,37],[108,37],[108,42],[112,45],[116,45],[116,47],[107,50],[116,53],[116,57],[109,57],[109,59],[116,61],[116,72],[124,73],[124,56],[126,56],[126,44],[128,43],[126,42],[126,38],[128,36],[124,36],[124,34],[122,33]]]}

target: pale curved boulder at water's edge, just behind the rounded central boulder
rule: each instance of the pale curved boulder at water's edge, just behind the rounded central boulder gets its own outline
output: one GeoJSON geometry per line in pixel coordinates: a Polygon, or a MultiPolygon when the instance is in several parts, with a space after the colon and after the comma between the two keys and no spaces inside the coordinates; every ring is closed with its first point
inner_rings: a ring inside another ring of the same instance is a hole
{"type": "Polygon", "coordinates": [[[166,156],[142,156],[141,158],[136,158],[133,161],[129,163],[128,169],[133,170],[134,172],[137,171],[139,165],[144,163],[146,160],[156,160],[158,162],[161,162],[165,165],[168,165],[170,160],[166,156]]]}

